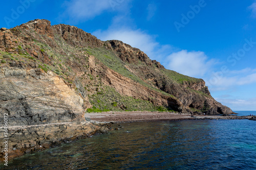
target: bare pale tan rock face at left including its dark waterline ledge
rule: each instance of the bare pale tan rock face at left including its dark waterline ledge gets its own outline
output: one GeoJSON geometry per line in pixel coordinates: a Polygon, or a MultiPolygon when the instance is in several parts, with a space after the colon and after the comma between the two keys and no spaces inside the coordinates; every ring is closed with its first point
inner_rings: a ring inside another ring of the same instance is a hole
{"type": "MultiPolygon", "coordinates": [[[[9,158],[107,130],[84,119],[82,97],[52,71],[10,65],[0,67],[0,122],[8,117],[9,158]]],[[[2,142],[0,160],[3,154],[2,142]]]]}

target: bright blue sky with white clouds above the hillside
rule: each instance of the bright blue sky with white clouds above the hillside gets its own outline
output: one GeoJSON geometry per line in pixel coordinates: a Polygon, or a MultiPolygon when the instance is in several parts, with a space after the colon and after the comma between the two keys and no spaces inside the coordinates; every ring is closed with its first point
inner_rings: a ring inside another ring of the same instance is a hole
{"type": "Polygon", "coordinates": [[[232,110],[256,110],[256,1],[22,0],[1,3],[0,27],[65,23],[140,48],[165,68],[202,78],[232,110]]]}

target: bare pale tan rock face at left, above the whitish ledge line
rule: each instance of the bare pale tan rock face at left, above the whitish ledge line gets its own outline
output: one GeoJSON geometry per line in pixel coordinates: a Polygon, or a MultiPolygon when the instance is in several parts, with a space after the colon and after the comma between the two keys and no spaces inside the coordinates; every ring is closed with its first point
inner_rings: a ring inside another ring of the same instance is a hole
{"type": "Polygon", "coordinates": [[[10,126],[72,122],[82,118],[83,99],[53,72],[5,67],[1,73],[0,109],[2,114],[8,113],[10,126]]]}

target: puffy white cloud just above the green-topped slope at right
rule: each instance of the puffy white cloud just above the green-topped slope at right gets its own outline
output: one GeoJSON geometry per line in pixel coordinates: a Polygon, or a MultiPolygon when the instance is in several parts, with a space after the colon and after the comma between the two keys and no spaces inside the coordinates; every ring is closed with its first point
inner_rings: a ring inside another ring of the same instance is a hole
{"type": "Polygon", "coordinates": [[[175,70],[183,75],[202,77],[215,64],[214,60],[208,60],[204,52],[188,52],[182,50],[173,53],[166,58],[167,69],[175,70]]]}

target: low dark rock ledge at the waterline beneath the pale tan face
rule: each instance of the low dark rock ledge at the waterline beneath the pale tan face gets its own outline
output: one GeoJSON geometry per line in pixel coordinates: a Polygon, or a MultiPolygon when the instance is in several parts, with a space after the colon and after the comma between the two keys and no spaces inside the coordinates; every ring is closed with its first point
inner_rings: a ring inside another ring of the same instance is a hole
{"type": "MultiPolygon", "coordinates": [[[[3,127],[1,127],[3,129],[3,127]]],[[[70,122],[32,126],[11,126],[8,128],[8,158],[48,149],[62,142],[71,142],[95,133],[105,133],[105,126],[90,122],[70,122]]],[[[6,137],[1,130],[0,140],[6,137]]],[[[1,145],[0,161],[4,160],[4,145],[1,145]]]]}

